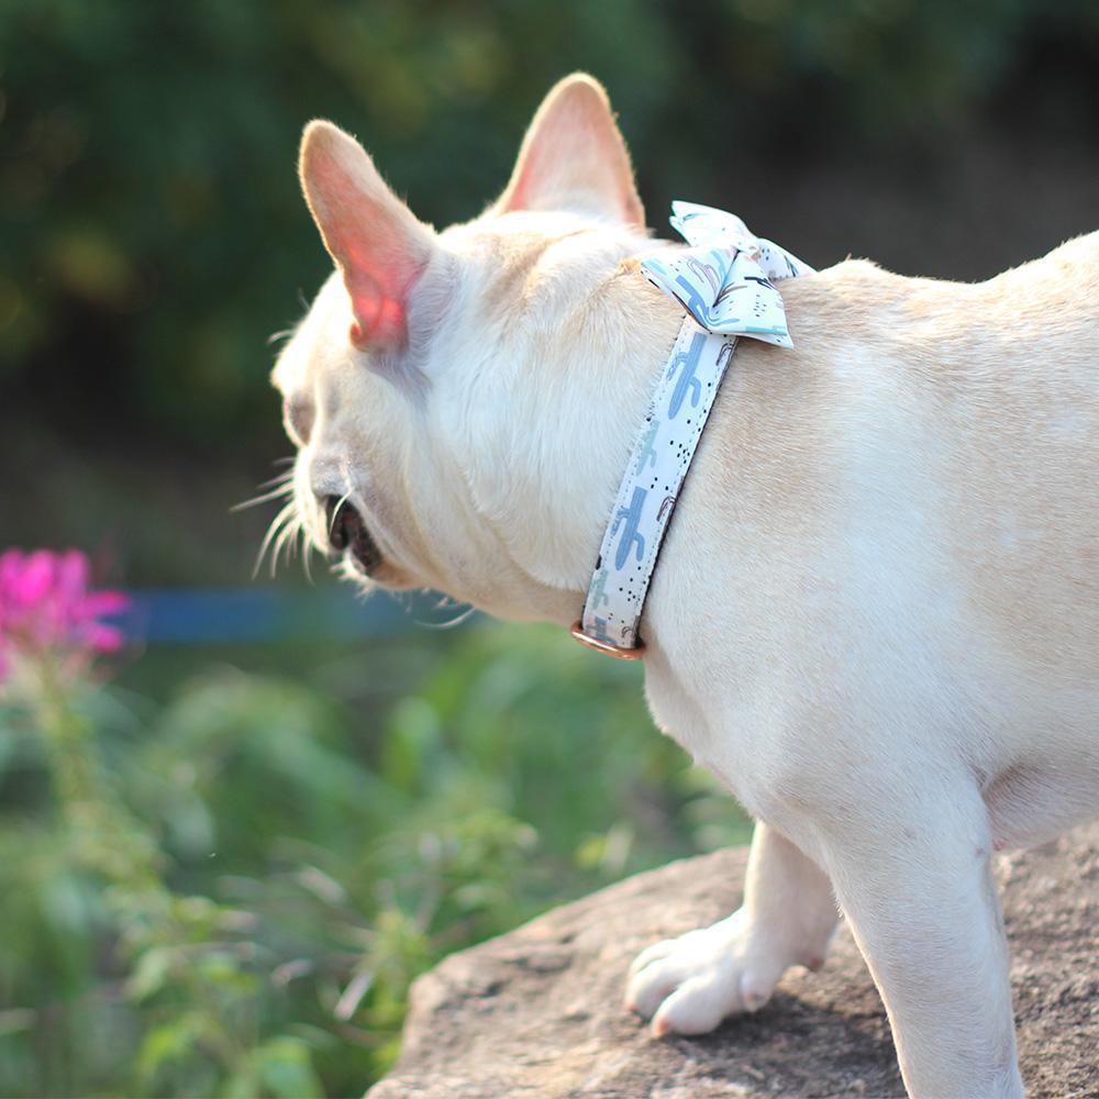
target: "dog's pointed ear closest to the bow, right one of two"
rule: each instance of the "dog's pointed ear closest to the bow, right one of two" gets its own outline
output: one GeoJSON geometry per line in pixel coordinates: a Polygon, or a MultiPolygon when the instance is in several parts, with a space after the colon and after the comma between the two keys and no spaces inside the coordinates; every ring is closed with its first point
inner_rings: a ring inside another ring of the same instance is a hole
{"type": "Polygon", "coordinates": [[[645,224],[630,154],[598,80],[574,73],[551,89],[495,209],[575,210],[645,224]]]}

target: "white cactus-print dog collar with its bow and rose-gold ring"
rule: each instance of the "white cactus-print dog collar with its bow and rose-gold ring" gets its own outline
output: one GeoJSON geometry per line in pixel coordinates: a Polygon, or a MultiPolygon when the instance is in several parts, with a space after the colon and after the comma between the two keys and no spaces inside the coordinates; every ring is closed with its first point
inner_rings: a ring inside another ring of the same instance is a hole
{"type": "Polygon", "coordinates": [[[780,279],[812,271],[734,214],[671,203],[671,226],[688,247],[645,259],[645,277],[686,317],[633,445],[584,603],[573,626],[581,644],[637,659],[639,624],[671,512],[741,336],[792,347],[780,279]]]}

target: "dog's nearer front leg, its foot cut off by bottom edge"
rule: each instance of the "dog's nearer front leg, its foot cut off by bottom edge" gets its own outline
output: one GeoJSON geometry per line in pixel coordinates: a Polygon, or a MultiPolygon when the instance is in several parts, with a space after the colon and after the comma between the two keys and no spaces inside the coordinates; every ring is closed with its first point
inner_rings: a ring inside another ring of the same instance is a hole
{"type": "Polygon", "coordinates": [[[869,799],[846,802],[807,826],[885,1001],[909,1094],[1014,1099],[1023,1090],[985,807],[964,780],[913,786],[877,812],[869,799]]]}

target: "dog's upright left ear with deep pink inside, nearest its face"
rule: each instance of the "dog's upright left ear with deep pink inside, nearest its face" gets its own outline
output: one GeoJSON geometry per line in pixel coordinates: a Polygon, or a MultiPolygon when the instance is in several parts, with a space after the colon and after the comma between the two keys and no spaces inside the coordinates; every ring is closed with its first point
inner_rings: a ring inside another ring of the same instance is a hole
{"type": "Polygon", "coordinates": [[[397,349],[408,300],[435,247],[434,233],[386,186],[366,149],[331,122],[306,126],[301,188],[351,296],[352,343],[397,349]]]}

